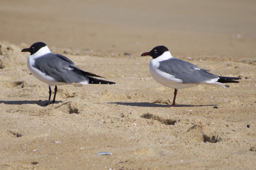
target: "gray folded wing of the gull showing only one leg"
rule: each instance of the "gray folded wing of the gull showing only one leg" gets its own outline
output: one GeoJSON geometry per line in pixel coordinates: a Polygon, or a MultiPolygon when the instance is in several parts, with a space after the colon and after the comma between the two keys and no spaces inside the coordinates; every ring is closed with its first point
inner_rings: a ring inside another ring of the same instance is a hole
{"type": "Polygon", "coordinates": [[[165,61],[161,61],[159,63],[159,70],[174,75],[176,79],[181,79],[185,84],[200,84],[205,81],[219,78],[214,74],[208,73],[207,71],[209,70],[200,69],[194,64],[183,60],[171,58],[165,61]]]}

